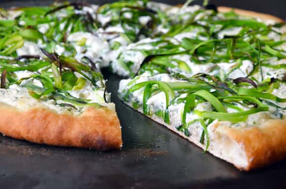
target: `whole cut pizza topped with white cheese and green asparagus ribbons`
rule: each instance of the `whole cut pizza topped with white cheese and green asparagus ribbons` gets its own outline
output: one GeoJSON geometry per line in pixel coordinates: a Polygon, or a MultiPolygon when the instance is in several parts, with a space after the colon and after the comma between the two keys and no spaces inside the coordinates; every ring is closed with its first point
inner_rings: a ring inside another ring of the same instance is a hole
{"type": "Polygon", "coordinates": [[[1,10],[0,132],[120,149],[102,67],[128,106],[250,170],[286,158],[286,27],[211,4],[132,0],[1,10]]]}

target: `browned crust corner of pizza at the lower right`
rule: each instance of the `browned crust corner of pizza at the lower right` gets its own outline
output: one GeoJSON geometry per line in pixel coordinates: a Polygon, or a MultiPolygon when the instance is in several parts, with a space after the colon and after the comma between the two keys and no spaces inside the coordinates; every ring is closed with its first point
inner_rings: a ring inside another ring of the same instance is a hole
{"type": "Polygon", "coordinates": [[[248,158],[249,171],[286,158],[286,120],[268,120],[262,126],[218,128],[242,146],[248,158]]]}

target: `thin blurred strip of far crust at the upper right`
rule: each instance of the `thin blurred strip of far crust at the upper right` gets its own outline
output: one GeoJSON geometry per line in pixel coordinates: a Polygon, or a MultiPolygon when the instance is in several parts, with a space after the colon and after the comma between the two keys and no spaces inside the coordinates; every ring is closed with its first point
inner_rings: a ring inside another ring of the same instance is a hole
{"type": "Polygon", "coordinates": [[[254,12],[250,10],[243,10],[239,8],[231,8],[231,7],[226,7],[226,6],[219,6],[217,7],[218,12],[229,12],[233,10],[236,14],[242,15],[242,16],[249,16],[253,18],[259,18],[262,20],[274,20],[276,22],[284,22],[281,18],[278,18],[276,16],[270,15],[270,14],[264,14],[264,13],[259,13],[259,12],[254,12]]]}

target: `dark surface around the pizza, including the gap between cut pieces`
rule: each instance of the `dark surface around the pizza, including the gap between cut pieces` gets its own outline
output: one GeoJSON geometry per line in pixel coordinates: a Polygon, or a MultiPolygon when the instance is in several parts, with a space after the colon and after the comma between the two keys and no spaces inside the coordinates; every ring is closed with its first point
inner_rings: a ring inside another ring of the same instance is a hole
{"type": "MultiPolygon", "coordinates": [[[[49,2],[0,0],[0,6],[49,2]]],[[[286,19],[286,0],[211,2],[286,19]]],[[[239,171],[125,106],[116,95],[120,78],[108,70],[104,70],[104,75],[122,126],[122,150],[99,152],[51,147],[0,136],[0,189],[286,188],[286,161],[250,172],[239,171]]]]}

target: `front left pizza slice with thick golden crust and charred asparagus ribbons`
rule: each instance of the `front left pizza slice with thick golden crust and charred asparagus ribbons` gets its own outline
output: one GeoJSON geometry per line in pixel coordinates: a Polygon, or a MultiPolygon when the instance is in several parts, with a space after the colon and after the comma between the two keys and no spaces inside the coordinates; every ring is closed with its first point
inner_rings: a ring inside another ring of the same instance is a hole
{"type": "Polygon", "coordinates": [[[42,52],[46,57],[0,59],[0,132],[40,144],[120,149],[121,127],[101,73],[42,52]]]}

